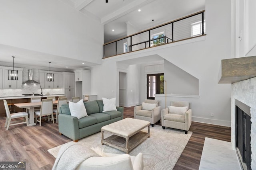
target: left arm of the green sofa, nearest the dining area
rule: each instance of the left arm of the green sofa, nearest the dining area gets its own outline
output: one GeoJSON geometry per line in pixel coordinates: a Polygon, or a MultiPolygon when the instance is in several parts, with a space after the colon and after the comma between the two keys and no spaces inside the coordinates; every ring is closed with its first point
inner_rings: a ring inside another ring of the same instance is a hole
{"type": "Polygon", "coordinates": [[[77,117],[66,114],[59,114],[58,124],[60,133],[69,137],[70,139],[73,139],[74,141],[79,139],[79,126],[77,117]]]}

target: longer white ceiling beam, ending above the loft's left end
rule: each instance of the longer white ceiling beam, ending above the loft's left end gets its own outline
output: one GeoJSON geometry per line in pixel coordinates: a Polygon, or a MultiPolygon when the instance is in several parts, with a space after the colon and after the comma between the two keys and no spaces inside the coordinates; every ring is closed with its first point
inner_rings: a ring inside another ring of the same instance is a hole
{"type": "Polygon", "coordinates": [[[101,23],[102,24],[109,23],[109,22],[116,20],[117,18],[120,18],[121,16],[124,16],[124,15],[128,14],[129,12],[132,12],[138,8],[141,8],[142,6],[145,6],[146,4],[149,4],[150,2],[153,2],[153,1],[154,0],[135,0],[131,3],[129,3],[128,5],[103,17],[101,19],[101,23]]]}

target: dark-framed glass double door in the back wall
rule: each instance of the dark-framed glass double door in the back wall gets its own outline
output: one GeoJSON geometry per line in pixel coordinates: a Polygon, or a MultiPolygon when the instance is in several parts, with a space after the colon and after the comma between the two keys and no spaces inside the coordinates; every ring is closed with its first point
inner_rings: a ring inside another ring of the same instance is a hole
{"type": "Polygon", "coordinates": [[[147,99],[155,99],[155,94],[164,94],[164,73],[147,74],[147,99]]]}

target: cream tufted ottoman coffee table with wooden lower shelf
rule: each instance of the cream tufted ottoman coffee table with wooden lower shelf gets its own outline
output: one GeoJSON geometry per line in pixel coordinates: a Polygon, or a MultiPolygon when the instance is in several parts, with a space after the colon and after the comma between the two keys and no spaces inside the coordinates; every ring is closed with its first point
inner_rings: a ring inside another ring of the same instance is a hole
{"type": "Polygon", "coordinates": [[[138,146],[142,141],[150,137],[150,122],[125,118],[120,121],[111,123],[101,128],[101,144],[128,152],[138,146]],[[148,127],[148,132],[141,130],[148,127]],[[110,137],[104,139],[104,132],[112,133],[110,137]]]}

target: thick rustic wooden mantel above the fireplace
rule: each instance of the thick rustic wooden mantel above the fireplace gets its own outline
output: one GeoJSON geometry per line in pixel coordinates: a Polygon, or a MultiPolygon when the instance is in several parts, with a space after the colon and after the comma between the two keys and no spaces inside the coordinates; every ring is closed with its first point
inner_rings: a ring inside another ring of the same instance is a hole
{"type": "Polygon", "coordinates": [[[256,77],[256,56],[221,61],[219,84],[228,84],[256,77]]]}

